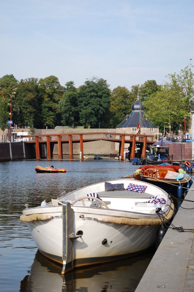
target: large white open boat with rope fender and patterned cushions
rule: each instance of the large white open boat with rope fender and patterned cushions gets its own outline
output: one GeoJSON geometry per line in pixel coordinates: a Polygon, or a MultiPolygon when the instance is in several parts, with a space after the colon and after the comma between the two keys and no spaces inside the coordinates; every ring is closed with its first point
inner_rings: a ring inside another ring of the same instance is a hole
{"type": "Polygon", "coordinates": [[[20,220],[28,222],[39,251],[63,264],[64,274],[151,247],[173,210],[167,192],[125,178],[80,188],[43,206],[27,206],[20,220]]]}

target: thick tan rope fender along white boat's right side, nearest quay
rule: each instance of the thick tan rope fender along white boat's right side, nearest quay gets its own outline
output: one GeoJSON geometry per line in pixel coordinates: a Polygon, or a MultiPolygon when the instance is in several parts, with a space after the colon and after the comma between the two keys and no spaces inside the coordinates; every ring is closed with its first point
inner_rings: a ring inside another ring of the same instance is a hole
{"type": "Polygon", "coordinates": [[[106,223],[114,223],[114,224],[120,224],[120,225],[129,225],[129,226],[143,226],[143,225],[161,225],[161,223],[166,223],[172,218],[172,215],[174,213],[174,204],[172,203],[172,208],[168,212],[168,215],[162,216],[162,218],[159,219],[132,219],[132,218],[126,218],[126,217],[120,217],[120,218],[104,218],[102,219],[103,222],[106,223]]]}

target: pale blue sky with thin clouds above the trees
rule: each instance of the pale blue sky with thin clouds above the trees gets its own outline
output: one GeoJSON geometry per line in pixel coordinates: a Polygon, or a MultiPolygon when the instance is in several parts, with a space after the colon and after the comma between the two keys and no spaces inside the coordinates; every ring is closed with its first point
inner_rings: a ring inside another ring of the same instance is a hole
{"type": "Polygon", "coordinates": [[[193,11],[193,0],[1,1],[0,78],[163,84],[194,64],[193,11]]]}

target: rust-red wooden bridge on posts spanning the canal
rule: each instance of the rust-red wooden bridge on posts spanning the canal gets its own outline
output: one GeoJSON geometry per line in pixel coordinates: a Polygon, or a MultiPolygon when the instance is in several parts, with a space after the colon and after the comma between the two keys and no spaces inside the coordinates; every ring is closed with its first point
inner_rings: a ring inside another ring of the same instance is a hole
{"type": "MultiPolygon", "coordinates": [[[[126,133],[109,133],[109,132],[95,132],[95,133],[68,133],[68,134],[47,134],[47,135],[26,135],[22,138],[30,138],[26,143],[34,143],[36,149],[36,159],[41,159],[40,146],[46,144],[47,159],[52,159],[52,150],[54,144],[58,145],[58,159],[63,159],[62,144],[69,144],[69,158],[73,159],[73,143],[80,143],[81,158],[84,156],[83,143],[92,141],[109,141],[119,143],[119,156],[121,160],[124,159],[124,145],[128,143],[130,146],[130,159],[135,157],[136,144],[141,145],[141,158],[146,156],[146,146],[153,144],[154,135],[135,135],[126,133]],[[79,136],[77,138],[76,136],[79,136]],[[87,136],[87,137],[86,137],[87,136]],[[88,138],[89,136],[89,138],[88,138]],[[84,138],[85,137],[85,138],[84,138]]],[[[28,139],[26,139],[28,140],[28,139]]]]}

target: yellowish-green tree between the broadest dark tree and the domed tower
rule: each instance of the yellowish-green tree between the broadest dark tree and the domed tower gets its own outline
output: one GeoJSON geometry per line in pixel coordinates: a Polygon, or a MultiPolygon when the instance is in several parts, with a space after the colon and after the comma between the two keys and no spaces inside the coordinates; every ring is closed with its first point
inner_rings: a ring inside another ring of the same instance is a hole
{"type": "Polygon", "coordinates": [[[118,126],[126,117],[126,114],[130,114],[131,105],[130,92],[126,87],[118,86],[111,92],[111,104],[110,104],[110,126],[115,128],[118,126]]]}

